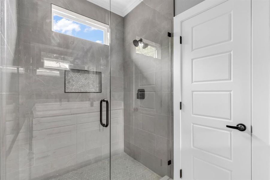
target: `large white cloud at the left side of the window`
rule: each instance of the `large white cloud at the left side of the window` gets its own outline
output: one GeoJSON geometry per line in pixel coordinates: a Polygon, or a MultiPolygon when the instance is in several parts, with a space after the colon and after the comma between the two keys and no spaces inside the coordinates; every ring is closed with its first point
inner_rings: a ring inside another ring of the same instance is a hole
{"type": "Polygon", "coordinates": [[[60,19],[58,21],[53,21],[53,30],[56,32],[61,32],[63,34],[72,35],[73,31],[81,31],[80,25],[74,23],[72,20],[60,19]]]}

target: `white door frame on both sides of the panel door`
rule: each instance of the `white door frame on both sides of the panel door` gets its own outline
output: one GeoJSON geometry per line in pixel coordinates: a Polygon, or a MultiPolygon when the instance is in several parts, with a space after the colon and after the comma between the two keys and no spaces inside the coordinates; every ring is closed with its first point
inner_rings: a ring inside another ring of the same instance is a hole
{"type": "MultiPolygon", "coordinates": [[[[174,17],[174,179],[181,161],[181,24],[227,0],[205,0],[174,17]],[[180,78],[179,78],[180,77],[180,78]]],[[[183,42],[185,40],[182,40],[183,42]]],[[[253,180],[270,179],[270,0],[251,0],[251,167],[253,180]],[[263,127],[263,128],[262,128],[263,127]]],[[[183,174],[185,172],[182,172],[183,174]]]]}

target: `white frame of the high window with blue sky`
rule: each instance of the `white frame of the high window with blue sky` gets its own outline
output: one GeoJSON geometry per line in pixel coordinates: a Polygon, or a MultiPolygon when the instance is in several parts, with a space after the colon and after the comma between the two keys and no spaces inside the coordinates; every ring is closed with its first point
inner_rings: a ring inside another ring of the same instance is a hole
{"type": "MultiPolygon", "coordinates": [[[[91,19],[89,17],[83,16],[81,14],[72,12],[70,10],[64,9],[62,7],[56,6],[52,4],[52,31],[53,31],[53,16],[61,16],[66,19],[70,19],[72,21],[84,24],[86,26],[90,26],[96,29],[103,31],[103,44],[109,45],[110,37],[109,37],[109,28],[108,24],[99,22],[97,20],[91,19]]],[[[76,36],[74,36],[76,37],[76,36]]],[[[93,41],[94,42],[94,41],[93,41]]]]}

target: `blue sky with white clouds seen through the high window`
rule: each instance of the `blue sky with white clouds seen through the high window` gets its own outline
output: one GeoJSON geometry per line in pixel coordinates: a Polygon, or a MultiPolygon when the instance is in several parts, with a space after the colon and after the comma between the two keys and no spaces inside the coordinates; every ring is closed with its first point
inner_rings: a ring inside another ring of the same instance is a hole
{"type": "Polygon", "coordinates": [[[104,44],[103,31],[61,16],[53,16],[53,31],[104,44]]]}

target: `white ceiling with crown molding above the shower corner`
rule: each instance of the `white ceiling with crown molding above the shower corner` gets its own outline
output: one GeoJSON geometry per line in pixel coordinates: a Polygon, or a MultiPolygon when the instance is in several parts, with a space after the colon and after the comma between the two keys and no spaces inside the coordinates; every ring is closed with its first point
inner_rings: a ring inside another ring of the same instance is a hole
{"type": "MultiPolygon", "coordinates": [[[[87,0],[100,7],[110,10],[110,0],[87,0]]],[[[111,0],[111,12],[122,17],[126,16],[141,0],[111,0]]]]}

